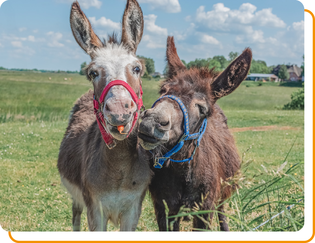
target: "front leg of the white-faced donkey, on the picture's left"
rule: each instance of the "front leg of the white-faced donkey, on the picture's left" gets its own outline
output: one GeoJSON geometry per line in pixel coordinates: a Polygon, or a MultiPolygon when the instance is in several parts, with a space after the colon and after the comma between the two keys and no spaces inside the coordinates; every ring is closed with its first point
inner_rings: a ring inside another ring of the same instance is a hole
{"type": "Polygon", "coordinates": [[[101,222],[102,217],[100,214],[100,207],[96,209],[93,207],[88,207],[87,216],[90,231],[106,231],[108,218],[105,217],[103,213],[103,222],[101,222]],[[102,225],[103,228],[101,227],[102,225]]]}

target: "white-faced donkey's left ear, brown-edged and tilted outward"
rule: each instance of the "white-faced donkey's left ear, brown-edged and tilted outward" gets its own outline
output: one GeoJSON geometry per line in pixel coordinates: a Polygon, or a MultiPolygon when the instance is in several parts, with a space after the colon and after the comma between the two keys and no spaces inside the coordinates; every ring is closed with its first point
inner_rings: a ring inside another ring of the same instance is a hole
{"type": "Polygon", "coordinates": [[[82,12],[77,1],[73,2],[71,6],[70,26],[77,43],[90,56],[95,48],[102,46],[102,42],[94,33],[90,21],[82,12]]]}

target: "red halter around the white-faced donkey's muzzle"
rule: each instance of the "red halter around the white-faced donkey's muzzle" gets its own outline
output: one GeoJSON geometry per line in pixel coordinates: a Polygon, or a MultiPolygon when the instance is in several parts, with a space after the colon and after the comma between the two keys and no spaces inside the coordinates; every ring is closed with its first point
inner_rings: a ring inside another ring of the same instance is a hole
{"type": "Polygon", "coordinates": [[[106,96],[107,92],[109,91],[109,89],[115,85],[121,85],[121,86],[125,87],[128,90],[128,92],[130,93],[133,101],[137,104],[137,110],[134,112],[134,120],[132,121],[132,125],[130,127],[127,138],[129,136],[129,134],[131,133],[132,129],[135,127],[135,123],[136,123],[137,118],[138,118],[138,111],[141,109],[141,107],[143,105],[143,102],[142,102],[143,92],[142,92],[141,85],[140,85],[140,98],[138,98],[135,91],[129,86],[129,84],[127,84],[126,82],[124,82],[122,80],[114,80],[114,81],[110,82],[104,88],[104,90],[100,96],[100,102],[98,102],[95,99],[95,95],[93,94],[94,114],[96,115],[96,120],[97,120],[97,123],[99,125],[102,137],[103,137],[103,139],[104,139],[104,141],[105,141],[105,143],[109,149],[112,149],[113,147],[115,147],[116,142],[114,141],[113,136],[110,133],[106,132],[106,130],[104,128],[104,127],[106,127],[104,115],[103,115],[103,112],[99,108],[100,108],[100,104],[104,103],[105,96],[106,96]]]}

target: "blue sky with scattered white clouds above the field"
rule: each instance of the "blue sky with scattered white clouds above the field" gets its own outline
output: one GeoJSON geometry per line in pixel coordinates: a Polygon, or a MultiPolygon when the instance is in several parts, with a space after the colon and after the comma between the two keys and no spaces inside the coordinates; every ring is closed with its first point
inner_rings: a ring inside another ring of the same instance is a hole
{"type": "MultiPolygon", "coordinates": [[[[125,0],[78,0],[96,34],[121,33],[125,0]]],[[[0,6],[0,66],[71,70],[90,57],[72,36],[72,0],[7,0],[0,6]]],[[[155,61],[163,72],[167,35],[174,35],[187,63],[251,47],[267,65],[297,64],[312,57],[312,25],[304,9],[314,0],[184,1],[139,0],[145,26],[137,55],[155,61]]]]}

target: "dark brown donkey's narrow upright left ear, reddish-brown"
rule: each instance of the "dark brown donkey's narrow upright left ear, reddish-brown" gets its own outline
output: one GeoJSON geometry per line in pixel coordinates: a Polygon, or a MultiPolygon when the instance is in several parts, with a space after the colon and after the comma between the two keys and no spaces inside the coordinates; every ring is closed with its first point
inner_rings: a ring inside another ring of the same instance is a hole
{"type": "Polygon", "coordinates": [[[177,54],[174,36],[167,37],[166,44],[166,61],[168,67],[168,76],[172,77],[176,75],[180,70],[185,70],[186,67],[177,54]]]}

